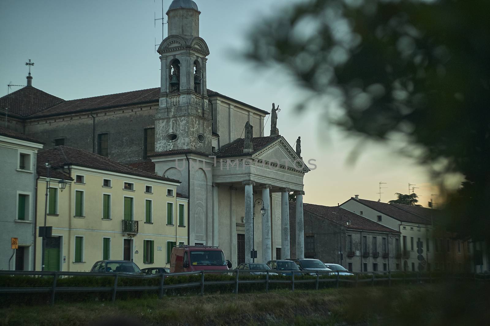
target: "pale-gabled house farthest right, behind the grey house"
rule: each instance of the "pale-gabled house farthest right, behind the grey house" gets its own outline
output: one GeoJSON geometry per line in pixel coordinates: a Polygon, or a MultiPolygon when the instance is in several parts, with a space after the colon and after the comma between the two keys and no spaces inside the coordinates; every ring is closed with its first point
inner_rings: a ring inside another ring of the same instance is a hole
{"type": "Polygon", "coordinates": [[[463,272],[470,270],[469,242],[441,228],[440,211],[409,205],[387,204],[359,198],[340,207],[401,233],[400,264],[404,271],[418,271],[417,249],[422,249],[422,270],[463,272]]]}

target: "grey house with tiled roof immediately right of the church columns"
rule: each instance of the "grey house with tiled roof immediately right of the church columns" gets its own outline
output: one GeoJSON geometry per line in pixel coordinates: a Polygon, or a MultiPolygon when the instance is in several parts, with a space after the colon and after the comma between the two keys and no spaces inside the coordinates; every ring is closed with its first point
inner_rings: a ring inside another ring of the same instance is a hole
{"type": "MultiPolygon", "coordinates": [[[[340,264],[352,272],[400,269],[400,232],[343,208],[303,204],[305,257],[340,264]]],[[[290,204],[295,225],[295,204],[290,204]]],[[[295,230],[291,252],[295,254],[295,230]]],[[[288,257],[284,257],[288,258],[288,257]]]]}

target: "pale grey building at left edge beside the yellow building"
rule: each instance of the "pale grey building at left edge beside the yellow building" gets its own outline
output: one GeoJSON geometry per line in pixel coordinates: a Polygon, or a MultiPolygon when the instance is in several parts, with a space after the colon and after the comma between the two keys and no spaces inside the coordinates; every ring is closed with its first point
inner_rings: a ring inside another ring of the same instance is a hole
{"type": "Polygon", "coordinates": [[[36,156],[43,142],[0,127],[0,269],[34,268],[36,156]],[[19,249],[11,248],[18,238],[19,249]]]}

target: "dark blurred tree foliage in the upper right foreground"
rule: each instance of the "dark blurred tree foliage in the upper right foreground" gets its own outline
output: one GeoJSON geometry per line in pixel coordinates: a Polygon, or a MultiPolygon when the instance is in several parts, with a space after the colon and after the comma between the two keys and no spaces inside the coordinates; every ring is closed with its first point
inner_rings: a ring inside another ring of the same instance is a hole
{"type": "Polygon", "coordinates": [[[451,224],[488,236],[489,13],[490,1],[304,1],[259,23],[247,57],[335,100],[342,114],[326,116],[344,130],[404,140],[436,181],[464,175],[451,224]]]}

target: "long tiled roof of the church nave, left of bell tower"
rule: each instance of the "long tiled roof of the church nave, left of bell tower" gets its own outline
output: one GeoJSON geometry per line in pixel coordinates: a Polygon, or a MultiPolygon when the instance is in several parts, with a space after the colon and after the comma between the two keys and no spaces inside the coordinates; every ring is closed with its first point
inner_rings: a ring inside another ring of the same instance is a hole
{"type": "Polygon", "coordinates": [[[158,87],[149,88],[146,90],[74,99],[65,101],[48,110],[34,114],[32,117],[55,116],[79,111],[112,108],[122,105],[158,102],[159,94],[160,88],[158,87]]]}

